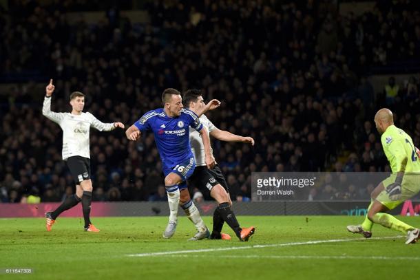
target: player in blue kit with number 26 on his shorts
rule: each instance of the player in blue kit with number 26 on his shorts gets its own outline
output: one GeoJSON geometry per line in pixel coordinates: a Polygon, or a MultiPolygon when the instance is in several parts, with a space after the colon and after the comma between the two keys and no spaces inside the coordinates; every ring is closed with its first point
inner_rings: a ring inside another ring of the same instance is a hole
{"type": "MultiPolygon", "coordinates": [[[[125,131],[125,135],[129,140],[136,141],[142,132],[153,131],[154,133],[156,147],[162,159],[170,211],[169,222],[163,237],[170,238],[176,231],[180,189],[187,189],[186,181],[196,166],[189,144],[189,127],[196,129],[202,137],[207,167],[212,168],[216,162],[210,150],[209,133],[206,127],[202,125],[195,113],[183,109],[180,92],[176,89],[165,89],[162,94],[162,103],[164,108],[148,111],[125,131]]],[[[219,105],[218,100],[211,100],[199,114],[219,105]]],[[[197,207],[192,203],[185,212],[197,228],[197,233],[191,240],[208,238],[209,230],[202,221],[197,207]]]]}

